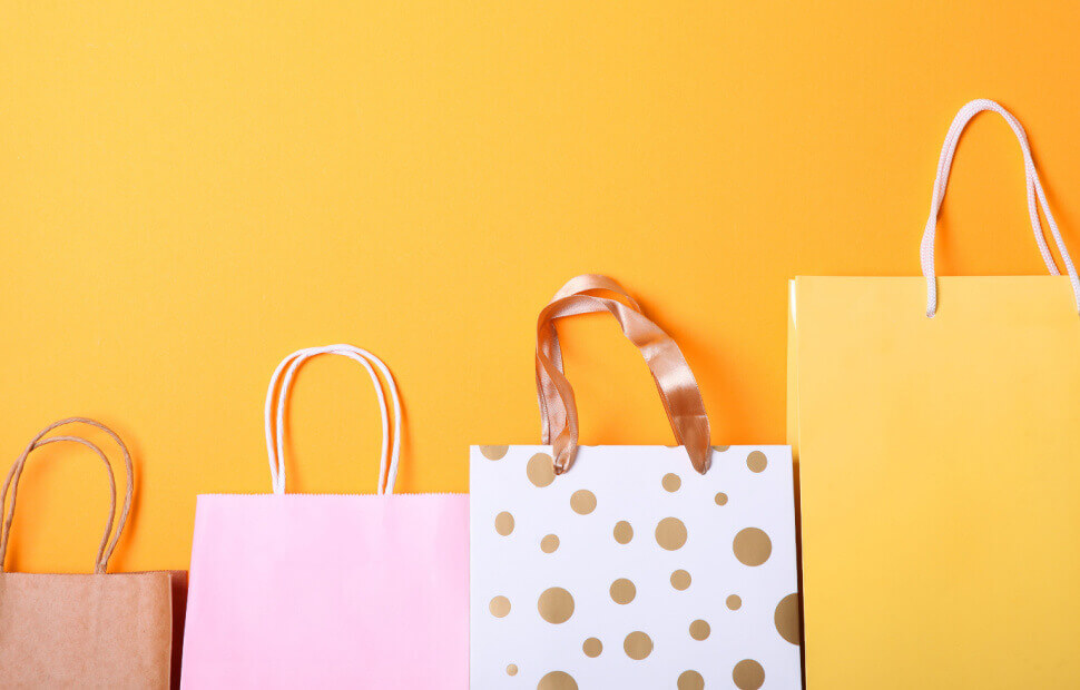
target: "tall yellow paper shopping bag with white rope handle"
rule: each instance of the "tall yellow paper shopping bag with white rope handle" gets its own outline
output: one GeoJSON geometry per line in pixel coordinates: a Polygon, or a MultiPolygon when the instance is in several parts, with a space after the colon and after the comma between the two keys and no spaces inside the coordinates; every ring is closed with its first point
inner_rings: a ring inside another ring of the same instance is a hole
{"type": "Polygon", "coordinates": [[[1080,283],[1023,128],[992,101],[953,121],[922,249],[924,278],[792,287],[807,684],[1080,687],[1080,283]],[[1020,140],[1052,276],[935,276],[953,154],[983,110],[1020,140]]]}

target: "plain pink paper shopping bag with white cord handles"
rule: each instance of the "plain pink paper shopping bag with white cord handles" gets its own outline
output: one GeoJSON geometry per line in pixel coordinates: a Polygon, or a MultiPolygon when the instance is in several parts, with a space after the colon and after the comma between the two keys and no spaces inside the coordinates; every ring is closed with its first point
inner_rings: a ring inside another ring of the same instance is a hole
{"type": "Polygon", "coordinates": [[[468,687],[469,497],[394,494],[400,432],[394,379],[371,353],[332,345],[278,365],[266,398],[273,493],[198,497],[181,687],[468,687]],[[297,367],[324,353],[357,361],[375,384],[373,495],[285,493],[286,397],[297,367]]]}

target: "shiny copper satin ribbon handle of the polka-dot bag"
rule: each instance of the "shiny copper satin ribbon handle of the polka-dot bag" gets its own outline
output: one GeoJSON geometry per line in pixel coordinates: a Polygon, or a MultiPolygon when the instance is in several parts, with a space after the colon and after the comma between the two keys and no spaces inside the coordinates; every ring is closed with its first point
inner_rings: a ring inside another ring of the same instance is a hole
{"type": "Polygon", "coordinates": [[[543,443],[552,445],[556,474],[569,470],[577,454],[578,417],[573,390],[562,373],[554,322],[598,312],[615,316],[622,333],[641,352],[676,440],[686,447],[695,470],[701,474],[708,471],[711,451],[709,421],[697,381],[675,341],[638,309],[637,303],[615,280],[603,276],[579,276],[559,290],[540,313],[537,319],[537,393],[543,443]],[[630,304],[582,294],[593,289],[625,296],[630,304]]]}

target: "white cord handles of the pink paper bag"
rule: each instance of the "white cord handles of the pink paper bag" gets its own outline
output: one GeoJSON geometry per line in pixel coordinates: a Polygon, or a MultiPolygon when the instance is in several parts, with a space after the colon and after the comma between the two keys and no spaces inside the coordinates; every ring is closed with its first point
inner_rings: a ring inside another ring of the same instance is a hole
{"type": "Polygon", "coordinates": [[[293,385],[293,377],[300,366],[318,355],[341,355],[355,359],[363,365],[375,385],[375,394],[379,396],[379,406],[382,412],[383,443],[381,460],[379,463],[379,485],[375,493],[394,493],[394,483],[397,481],[397,461],[401,457],[401,398],[397,397],[397,384],[394,381],[390,368],[382,359],[371,354],[366,349],[354,347],[353,345],[326,345],[324,347],[306,347],[297,349],[293,354],[282,359],[274,375],[271,376],[269,387],[266,390],[266,453],[269,457],[271,482],[275,494],[285,493],[285,403],[288,398],[288,391],[293,385]],[[386,396],[383,394],[383,383],[375,373],[375,368],[382,374],[382,378],[390,390],[390,396],[394,404],[394,431],[393,445],[391,446],[390,433],[390,410],[386,406],[386,396]],[[278,381],[281,388],[278,390],[278,381]],[[276,424],[275,424],[276,422],[276,424]]]}

